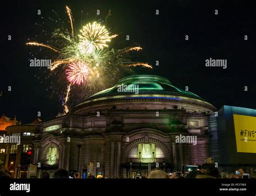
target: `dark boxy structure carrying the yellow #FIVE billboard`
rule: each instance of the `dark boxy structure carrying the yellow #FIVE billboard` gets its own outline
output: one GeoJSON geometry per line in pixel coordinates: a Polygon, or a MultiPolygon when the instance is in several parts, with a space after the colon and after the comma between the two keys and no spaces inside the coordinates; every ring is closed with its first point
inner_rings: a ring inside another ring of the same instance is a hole
{"type": "Polygon", "coordinates": [[[210,152],[221,170],[256,172],[256,109],[223,106],[209,117],[210,152]]]}

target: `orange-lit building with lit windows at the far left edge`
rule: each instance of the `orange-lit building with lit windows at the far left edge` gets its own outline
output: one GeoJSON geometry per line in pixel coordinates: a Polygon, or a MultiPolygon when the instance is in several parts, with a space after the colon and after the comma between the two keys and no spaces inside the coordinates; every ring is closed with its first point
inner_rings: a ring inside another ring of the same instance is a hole
{"type": "Polygon", "coordinates": [[[8,121],[2,123],[6,125],[5,130],[0,131],[1,165],[11,172],[13,178],[26,178],[31,163],[36,124],[42,121],[36,118],[31,124],[21,124],[16,118],[6,119],[8,121]]]}

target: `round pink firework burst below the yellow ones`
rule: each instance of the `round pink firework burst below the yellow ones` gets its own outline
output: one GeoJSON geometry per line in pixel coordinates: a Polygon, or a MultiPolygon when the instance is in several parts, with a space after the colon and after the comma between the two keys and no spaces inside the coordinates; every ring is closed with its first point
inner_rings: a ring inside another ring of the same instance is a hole
{"type": "Polygon", "coordinates": [[[87,64],[83,61],[71,62],[68,69],[66,69],[66,78],[72,83],[80,85],[84,83],[89,74],[87,64]]]}

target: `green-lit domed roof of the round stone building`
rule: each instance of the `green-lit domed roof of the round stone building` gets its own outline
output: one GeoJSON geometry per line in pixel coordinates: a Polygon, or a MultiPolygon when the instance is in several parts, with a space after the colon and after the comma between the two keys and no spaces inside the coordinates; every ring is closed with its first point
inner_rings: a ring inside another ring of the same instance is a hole
{"type": "Polygon", "coordinates": [[[76,112],[85,106],[89,107],[92,104],[98,104],[100,102],[125,100],[191,102],[201,104],[201,106],[210,108],[211,110],[216,109],[200,96],[173,86],[166,78],[156,75],[133,75],[120,79],[113,87],[90,96],[88,99],[79,103],[72,111],[76,112]]]}

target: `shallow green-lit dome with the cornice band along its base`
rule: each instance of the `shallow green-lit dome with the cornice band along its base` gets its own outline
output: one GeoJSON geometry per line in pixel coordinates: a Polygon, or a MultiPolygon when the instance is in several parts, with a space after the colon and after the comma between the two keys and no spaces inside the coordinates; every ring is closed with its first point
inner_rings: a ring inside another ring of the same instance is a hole
{"type": "MultiPolygon", "coordinates": [[[[196,108],[200,108],[200,111],[216,110],[212,104],[198,95],[173,86],[166,78],[156,75],[133,75],[120,79],[112,88],[90,96],[73,108],[73,112],[79,113],[92,106],[94,109],[103,107],[103,105],[111,106],[113,103],[123,104],[124,108],[132,104],[133,106],[131,107],[139,109],[143,107],[142,104],[138,104],[139,102],[143,104],[159,104],[160,108],[168,108],[168,104],[170,104],[170,107],[186,107],[190,111],[195,111],[197,110],[196,108]],[[171,106],[172,104],[173,106],[171,106]]],[[[151,108],[153,107],[157,106],[152,106],[151,108]]]]}

